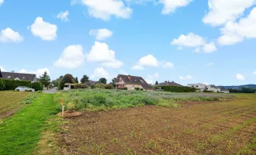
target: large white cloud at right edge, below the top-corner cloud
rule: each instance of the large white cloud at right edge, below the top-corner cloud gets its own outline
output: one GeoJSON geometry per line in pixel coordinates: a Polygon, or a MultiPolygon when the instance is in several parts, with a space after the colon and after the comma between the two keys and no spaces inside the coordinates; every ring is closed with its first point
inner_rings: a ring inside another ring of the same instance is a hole
{"type": "Polygon", "coordinates": [[[220,36],[218,43],[221,45],[233,45],[242,42],[244,39],[256,38],[256,8],[252,9],[246,18],[239,22],[227,22],[226,26],[220,29],[223,36],[220,36]]]}

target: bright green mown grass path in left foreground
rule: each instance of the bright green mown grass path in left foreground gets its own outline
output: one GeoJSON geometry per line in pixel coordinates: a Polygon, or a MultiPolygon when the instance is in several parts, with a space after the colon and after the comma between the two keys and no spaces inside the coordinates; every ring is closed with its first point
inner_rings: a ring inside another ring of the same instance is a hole
{"type": "Polygon", "coordinates": [[[0,122],[0,154],[31,154],[44,122],[56,113],[54,95],[42,94],[16,115],[0,122]]]}

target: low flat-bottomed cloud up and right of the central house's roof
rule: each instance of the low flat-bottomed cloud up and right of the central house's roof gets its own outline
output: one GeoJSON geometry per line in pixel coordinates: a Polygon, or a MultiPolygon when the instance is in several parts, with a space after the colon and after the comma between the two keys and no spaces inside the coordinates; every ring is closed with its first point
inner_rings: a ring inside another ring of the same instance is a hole
{"type": "Polygon", "coordinates": [[[139,62],[131,67],[132,70],[144,70],[144,67],[163,67],[163,68],[173,68],[174,64],[170,62],[159,62],[157,58],[153,55],[148,54],[145,57],[141,57],[139,62]]]}

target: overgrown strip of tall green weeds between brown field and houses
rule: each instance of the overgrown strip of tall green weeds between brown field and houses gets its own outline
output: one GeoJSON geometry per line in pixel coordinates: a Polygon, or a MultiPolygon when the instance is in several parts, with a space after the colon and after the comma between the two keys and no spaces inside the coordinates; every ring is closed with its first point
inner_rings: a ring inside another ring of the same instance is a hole
{"type": "Polygon", "coordinates": [[[143,105],[177,107],[178,101],[220,101],[232,96],[206,95],[201,93],[170,93],[159,91],[121,91],[84,89],[57,92],[55,102],[64,99],[68,110],[104,110],[131,108],[143,105]]]}

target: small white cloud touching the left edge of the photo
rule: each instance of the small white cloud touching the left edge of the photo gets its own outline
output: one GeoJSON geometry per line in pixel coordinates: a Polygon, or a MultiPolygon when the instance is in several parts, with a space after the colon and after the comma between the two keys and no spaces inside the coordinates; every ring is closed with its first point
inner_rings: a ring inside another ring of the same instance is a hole
{"type": "Polygon", "coordinates": [[[0,33],[0,43],[6,42],[21,42],[23,37],[18,32],[13,31],[11,28],[2,29],[0,33]]]}

